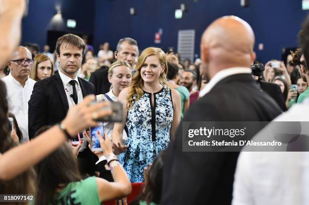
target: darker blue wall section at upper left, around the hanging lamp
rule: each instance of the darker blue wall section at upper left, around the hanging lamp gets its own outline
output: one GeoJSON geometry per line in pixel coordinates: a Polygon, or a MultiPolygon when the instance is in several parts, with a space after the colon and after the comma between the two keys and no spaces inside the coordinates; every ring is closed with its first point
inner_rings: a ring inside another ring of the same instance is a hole
{"type": "Polygon", "coordinates": [[[65,28],[65,32],[93,34],[94,31],[94,0],[29,0],[28,16],[22,22],[22,44],[46,44],[47,30],[51,30],[50,20],[57,14],[56,5],[61,6],[63,19],[76,20],[76,28],[65,28]]]}

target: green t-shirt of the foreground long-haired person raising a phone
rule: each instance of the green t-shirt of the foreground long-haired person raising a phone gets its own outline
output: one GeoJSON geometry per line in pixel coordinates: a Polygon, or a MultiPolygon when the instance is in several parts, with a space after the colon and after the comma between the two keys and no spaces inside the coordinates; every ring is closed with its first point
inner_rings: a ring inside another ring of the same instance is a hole
{"type": "Polygon", "coordinates": [[[67,187],[59,193],[55,204],[101,204],[98,197],[95,177],[88,177],[78,182],[69,183],[67,187]]]}

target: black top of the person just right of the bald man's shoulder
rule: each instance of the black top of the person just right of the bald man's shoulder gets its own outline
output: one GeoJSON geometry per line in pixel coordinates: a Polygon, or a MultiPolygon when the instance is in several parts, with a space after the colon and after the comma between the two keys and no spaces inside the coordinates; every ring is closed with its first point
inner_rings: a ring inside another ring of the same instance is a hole
{"type": "Polygon", "coordinates": [[[260,86],[263,91],[270,95],[279,105],[282,111],[286,111],[286,105],[280,86],[275,83],[260,81],[260,86]]]}

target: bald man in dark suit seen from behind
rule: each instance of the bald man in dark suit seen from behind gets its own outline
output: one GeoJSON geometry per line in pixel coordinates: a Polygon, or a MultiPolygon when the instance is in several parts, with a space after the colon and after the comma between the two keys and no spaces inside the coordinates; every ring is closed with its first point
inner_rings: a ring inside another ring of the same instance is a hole
{"type": "MultiPolygon", "coordinates": [[[[281,113],[250,74],[253,45],[251,27],[234,16],[222,17],[205,30],[200,50],[209,84],[183,121],[271,121],[281,113]]],[[[231,204],[238,154],[183,152],[180,125],[167,149],[161,204],[231,204]]]]}

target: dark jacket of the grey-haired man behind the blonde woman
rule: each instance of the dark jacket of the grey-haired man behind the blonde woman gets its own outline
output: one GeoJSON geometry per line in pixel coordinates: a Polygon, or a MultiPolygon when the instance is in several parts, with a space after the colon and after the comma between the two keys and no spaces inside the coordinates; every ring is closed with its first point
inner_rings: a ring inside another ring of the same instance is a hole
{"type": "Polygon", "coordinates": [[[110,91],[111,83],[108,80],[109,67],[101,66],[100,69],[93,72],[89,82],[92,83],[96,90],[96,95],[106,94],[110,91]]]}

